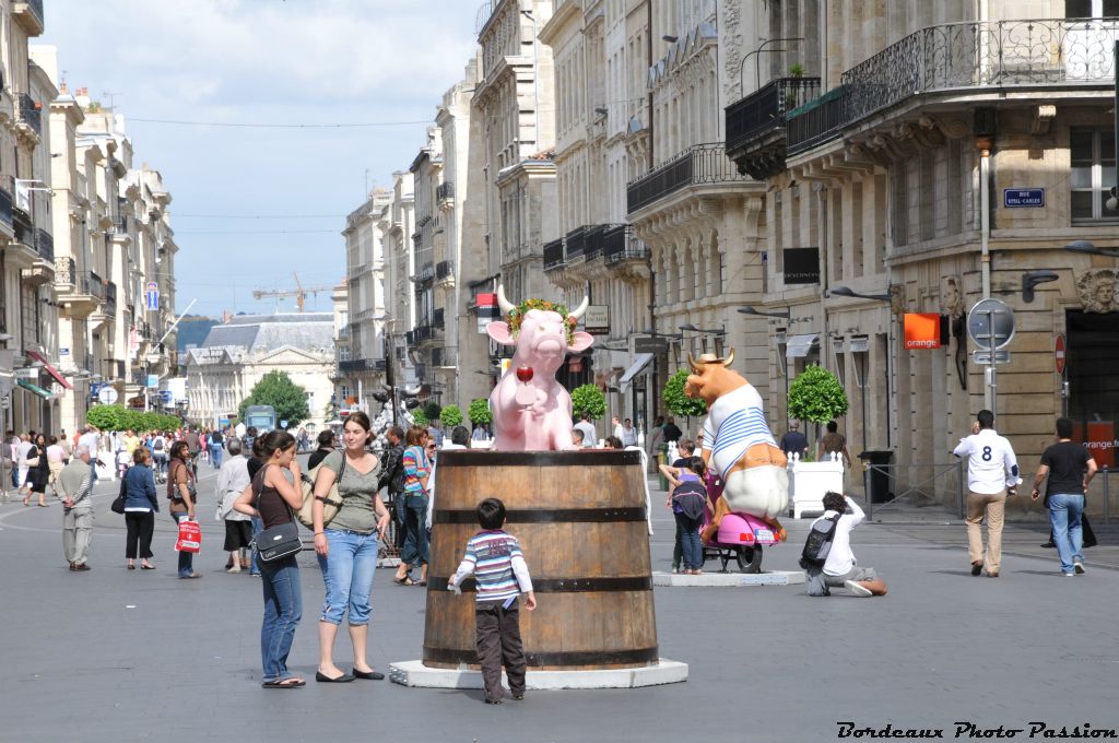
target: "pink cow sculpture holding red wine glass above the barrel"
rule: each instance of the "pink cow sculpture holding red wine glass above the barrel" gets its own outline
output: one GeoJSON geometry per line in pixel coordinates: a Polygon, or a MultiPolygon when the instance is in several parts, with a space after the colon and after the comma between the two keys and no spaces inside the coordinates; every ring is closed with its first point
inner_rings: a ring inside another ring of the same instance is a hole
{"type": "Polygon", "coordinates": [[[486,332],[502,346],[516,346],[516,351],[508,372],[490,394],[493,449],[575,449],[571,439],[571,395],[556,382],[555,374],[568,352],[585,350],[594,342],[590,333],[572,330],[575,321],[586,311],[589,300],[583,299],[583,303],[567,317],[542,309],[529,309],[519,316],[518,308],[505,298],[505,286],[498,286],[497,302],[501,314],[510,322],[490,322],[486,332]],[[510,313],[514,311],[520,321],[517,329],[511,322],[514,316],[510,313]]]}

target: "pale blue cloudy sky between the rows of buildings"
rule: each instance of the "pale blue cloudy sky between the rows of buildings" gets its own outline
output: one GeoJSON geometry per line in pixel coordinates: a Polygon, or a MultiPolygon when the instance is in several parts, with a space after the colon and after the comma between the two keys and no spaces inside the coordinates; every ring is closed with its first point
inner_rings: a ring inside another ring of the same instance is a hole
{"type": "MultiPolygon", "coordinates": [[[[474,53],[481,0],[46,0],[70,90],[125,116],[170,190],[179,311],[272,311],[255,289],[345,275],[345,216],[391,186],[474,53]],[[159,120],[159,121],[144,121],[159,120]]],[[[294,311],[294,299],[279,308],[294,311]]],[[[330,309],[330,294],[308,297],[330,309]]]]}

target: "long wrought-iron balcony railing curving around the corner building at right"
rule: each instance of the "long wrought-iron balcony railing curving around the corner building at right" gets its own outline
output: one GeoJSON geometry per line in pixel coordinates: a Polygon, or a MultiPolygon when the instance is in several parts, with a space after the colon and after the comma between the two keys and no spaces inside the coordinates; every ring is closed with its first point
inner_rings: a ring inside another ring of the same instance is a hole
{"type": "MultiPolygon", "coordinates": [[[[1113,85],[1119,18],[974,21],[922,28],[787,114],[789,153],[827,141],[914,95],[1113,85]]],[[[972,102],[971,105],[975,105],[972,102]]]]}

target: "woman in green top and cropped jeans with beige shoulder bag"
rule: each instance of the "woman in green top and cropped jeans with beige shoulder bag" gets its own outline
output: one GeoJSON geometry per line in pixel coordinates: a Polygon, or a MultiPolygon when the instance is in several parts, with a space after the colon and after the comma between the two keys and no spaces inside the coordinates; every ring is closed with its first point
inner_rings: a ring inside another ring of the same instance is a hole
{"type": "Polygon", "coordinates": [[[319,617],[318,681],[352,681],[356,678],[379,680],[385,677],[365,659],[369,630],[369,592],[377,567],[378,537],[388,527],[388,509],[377,496],[380,462],[366,451],[373,438],[369,416],[351,413],[342,429],[345,449],[329,454],[319,465],[314,480],[314,552],[319,556],[322,582],[327,587],[319,617]],[[344,464],[345,458],[345,464],[344,464]],[[342,505],[329,524],[323,523],[323,500],[338,473],[338,495],[342,505]],[[349,610],[349,633],[354,643],[354,674],[333,661],[335,638],[342,614],[349,610]]]}

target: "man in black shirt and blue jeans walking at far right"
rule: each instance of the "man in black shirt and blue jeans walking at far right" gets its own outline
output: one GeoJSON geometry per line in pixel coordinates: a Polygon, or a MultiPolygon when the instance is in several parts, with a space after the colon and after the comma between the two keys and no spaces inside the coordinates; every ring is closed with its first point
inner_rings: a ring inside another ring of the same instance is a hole
{"type": "Polygon", "coordinates": [[[1053,540],[1061,557],[1061,574],[1084,574],[1084,533],[1081,516],[1084,514],[1084,493],[1088,483],[1096,477],[1096,460],[1088,454],[1083,444],[1072,441],[1072,420],[1056,420],[1056,443],[1042,453],[1042,463],[1034,476],[1034,500],[1041,496],[1042,482],[1049,477],[1045,488],[1045,506],[1050,509],[1053,525],[1053,540]]]}

